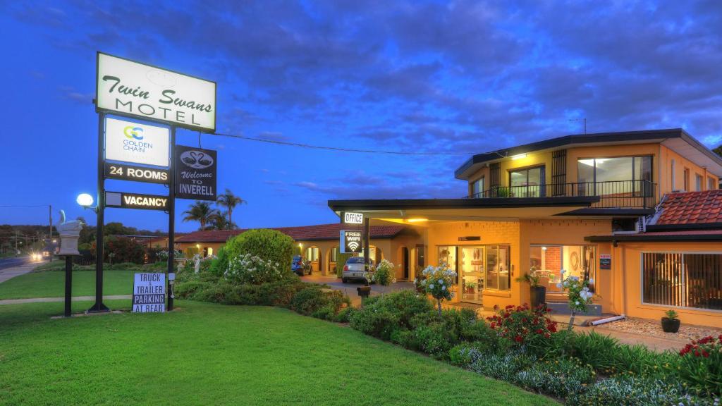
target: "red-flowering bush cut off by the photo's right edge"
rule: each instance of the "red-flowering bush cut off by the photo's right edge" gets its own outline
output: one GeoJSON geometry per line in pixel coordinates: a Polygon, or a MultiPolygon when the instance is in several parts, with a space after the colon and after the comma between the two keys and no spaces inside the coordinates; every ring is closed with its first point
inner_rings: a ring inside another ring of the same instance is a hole
{"type": "Polygon", "coordinates": [[[722,394],[722,334],[685,345],[679,351],[679,376],[702,392],[722,394]]]}

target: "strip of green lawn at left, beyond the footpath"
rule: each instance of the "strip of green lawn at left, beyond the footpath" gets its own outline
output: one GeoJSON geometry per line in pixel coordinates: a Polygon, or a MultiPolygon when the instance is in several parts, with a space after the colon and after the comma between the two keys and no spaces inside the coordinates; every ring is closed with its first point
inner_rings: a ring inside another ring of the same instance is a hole
{"type": "MultiPolygon", "coordinates": [[[[103,295],[133,293],[134,270],[103,272],[103,295]]],[[[65,295],[65,272],[42,271],[19,275],[0,283],[1,299],[59,298],[65,295]]],[[[73,272],[73,295],[95,295],[95,271],[73,272]]]]}

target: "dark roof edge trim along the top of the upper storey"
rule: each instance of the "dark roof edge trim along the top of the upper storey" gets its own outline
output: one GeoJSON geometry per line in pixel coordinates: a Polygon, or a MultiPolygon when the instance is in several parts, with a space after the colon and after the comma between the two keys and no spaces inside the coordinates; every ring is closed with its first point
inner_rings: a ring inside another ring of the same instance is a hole
{"type": "Polygon", "coordinates": [[[466,179],[468,176],[464,176],[466,170],[469,170],[474,165],[480,163],[487,163],[492,160],[498,160],[502,157],[510,157],[513,155],[526,154],[529,152],[548,150],[552,148],[565,147],[573,144],[593,144],[601,142],[644,142],[653,139],[666,139],[666,138],[682,138],[684,141],[690,143],[693,147],[703,152],[710,159],[716,161],[718,165],[722,166],[722,158],[710,151],[707,147],[701,144],[695,137],[687,134],[683,129],[660,129],[660,130],[644,130],[644,131],[622,131],[622,132],[604,132],[597,134],[576,134],[576,135],[565,135],[564,137],[557,137],[552,139],[544,139],[538,142],[532,142],[531,144],[518,145],[516,147],[510,147],[503,150],[496,150],[492,152],[485,152],[483,154],[474,155],[473,157],[466,160],[464,164],[458,167],[454,171],[454,177],[457,179],[466,179]]]}

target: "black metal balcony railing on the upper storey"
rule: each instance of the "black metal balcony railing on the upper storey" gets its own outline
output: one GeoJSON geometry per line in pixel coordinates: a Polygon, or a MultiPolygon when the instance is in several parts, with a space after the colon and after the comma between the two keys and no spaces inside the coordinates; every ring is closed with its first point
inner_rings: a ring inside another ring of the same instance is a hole
{"type": "Polygon", "coordinates": [[[651,181],[606,181],[553,183],[550,185],[496,186],[472,194],[472,199],[498,197],[576,197],[599,196],[597,208],[645,208],[656,204],[656,183],[651,181]]]}

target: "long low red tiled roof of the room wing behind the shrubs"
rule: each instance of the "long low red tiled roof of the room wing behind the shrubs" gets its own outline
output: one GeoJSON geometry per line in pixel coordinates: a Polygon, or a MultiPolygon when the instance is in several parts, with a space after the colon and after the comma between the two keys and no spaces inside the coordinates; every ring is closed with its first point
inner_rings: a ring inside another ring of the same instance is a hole
{"type": "MultiPolygon", "coordinates": [[[[371,226],[371,238],[393,238],[406,228],[404,225],[373,225],[371,226]]],[[[339,223],[303,225],[300,227],[277,227],[271,228],[290,236],[295,241],[321,241],[336,240],[339,238],[339,231],[342,225],[339,223]]],[[[176,238],[178,243],[222,243],[233,236],[245,232],[241,230],[205,230],[194,231],[185,236],[176,238]]]]}

